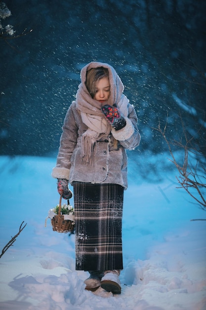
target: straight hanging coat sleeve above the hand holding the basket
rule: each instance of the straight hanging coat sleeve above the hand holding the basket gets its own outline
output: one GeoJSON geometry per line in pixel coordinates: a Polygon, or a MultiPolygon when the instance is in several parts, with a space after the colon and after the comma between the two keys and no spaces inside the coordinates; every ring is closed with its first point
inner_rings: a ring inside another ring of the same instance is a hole
{"type": "Polygon", "coordinates": [[[78,127],[73,113],[73,104],[71,104],[67,111],[62,130],[56,166],[53,168],[51,176],[57,179],[69,180],[70,160],[78,137],[78,127]]]}

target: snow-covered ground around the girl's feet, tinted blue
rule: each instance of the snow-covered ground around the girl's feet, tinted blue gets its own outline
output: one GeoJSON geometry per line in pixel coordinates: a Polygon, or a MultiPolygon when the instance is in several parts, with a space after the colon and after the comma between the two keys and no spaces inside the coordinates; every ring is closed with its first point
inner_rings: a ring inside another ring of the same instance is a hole
{"type": "Polygon", "coordinates": [[[49,220],[44,227],[59,202],[54,165],[55,158],[0,157],[0,250],[27,223],[0,258],[0,310],[206,310],[206,221],[190,221],[206,213],[176,188],[176,171],[148,183],[129,164],[122,294],[113,296],[85,291],[74,235],[53,232],[49,220]]]}

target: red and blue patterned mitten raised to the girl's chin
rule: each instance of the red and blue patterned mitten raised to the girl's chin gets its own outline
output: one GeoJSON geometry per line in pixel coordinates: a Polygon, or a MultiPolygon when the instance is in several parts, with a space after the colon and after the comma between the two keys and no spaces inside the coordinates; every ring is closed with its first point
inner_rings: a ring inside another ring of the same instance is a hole
{"type": "Polygon", "coordinates": [[[113,106],[109,104],[103,105],[102,112],[115,130],[120,130],[126,125],[126,121],[116,104],[113,106]]]}

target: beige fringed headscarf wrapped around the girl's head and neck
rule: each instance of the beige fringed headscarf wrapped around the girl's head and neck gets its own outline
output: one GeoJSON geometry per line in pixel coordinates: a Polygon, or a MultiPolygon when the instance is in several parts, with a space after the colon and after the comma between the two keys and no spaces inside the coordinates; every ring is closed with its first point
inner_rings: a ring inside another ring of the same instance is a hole
{"type": "Polygon", "coordinates": [[[124,117],[128,116],[128,99],[123,95],[124,85],[115,69],[107,63],[90,62],[81,70],[81,84],[76,95],[76,106],[83,123],[88,127],[82,135],[82,160],[93,165],[93,149],[97,140],[108,135],[111,125],[103,115],[102,103],[92,99],[86,86],[86,72],[91,68],[104,67],[109,71],[110,97],[105,104],[117,104],[124,117]]]}

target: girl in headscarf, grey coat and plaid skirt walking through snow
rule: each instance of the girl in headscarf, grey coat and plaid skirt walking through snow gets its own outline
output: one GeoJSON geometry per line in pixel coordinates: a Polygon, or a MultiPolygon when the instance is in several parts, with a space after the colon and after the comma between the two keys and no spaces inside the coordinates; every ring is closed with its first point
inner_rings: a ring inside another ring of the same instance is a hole
{"type": "Polygon", "coordinates": [[[115,69],[90,62],[66,114],[52,176],[70,199],[74,188],[76,270],[88,271],[85,289],[121,293],[122,216],[127,155],[139,145],[134,107],[115,69]]]}

